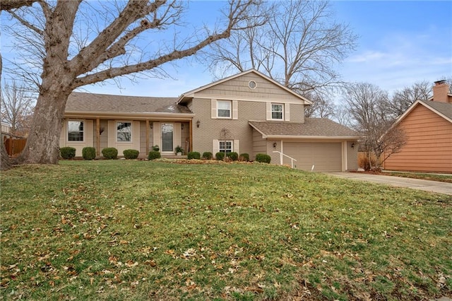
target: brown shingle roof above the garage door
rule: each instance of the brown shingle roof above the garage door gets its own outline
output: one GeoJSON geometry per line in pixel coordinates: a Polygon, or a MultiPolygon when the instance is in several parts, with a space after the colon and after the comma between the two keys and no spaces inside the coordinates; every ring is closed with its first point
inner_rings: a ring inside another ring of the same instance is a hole
{"type": "Polygon", "coordinates": [[[352,129],[326,118],[305,118],[302,122],[258,122],[250,121],[254,129],[266,136],[326,136],[357,137],[352,129]]]}

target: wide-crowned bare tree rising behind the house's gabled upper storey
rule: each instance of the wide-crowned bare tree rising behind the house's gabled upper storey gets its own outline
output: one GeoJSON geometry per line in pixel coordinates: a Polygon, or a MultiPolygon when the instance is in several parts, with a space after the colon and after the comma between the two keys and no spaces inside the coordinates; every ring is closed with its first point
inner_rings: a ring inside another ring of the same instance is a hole
{"type": "Polygon", "coordinates": [[[357,36],[334,21],[328,1],[280,1],[265,4],[268,21],[215,43],[207,54],[211,71],[254,68],[300,94],[334,85],[333,66],[355,49],[357,36]]]}

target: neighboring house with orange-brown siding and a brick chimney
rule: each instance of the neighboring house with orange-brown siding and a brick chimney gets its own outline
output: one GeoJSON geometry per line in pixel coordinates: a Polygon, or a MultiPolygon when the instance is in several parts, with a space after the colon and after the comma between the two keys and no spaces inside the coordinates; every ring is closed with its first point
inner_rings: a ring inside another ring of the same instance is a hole
{"type": "Polygon", "coordinates": [[[452,173],[452,94],[437,81],[433,97],[417,100],[394,126],[403,129],[406,144],[386,159],[386,170],[452,173]]]}

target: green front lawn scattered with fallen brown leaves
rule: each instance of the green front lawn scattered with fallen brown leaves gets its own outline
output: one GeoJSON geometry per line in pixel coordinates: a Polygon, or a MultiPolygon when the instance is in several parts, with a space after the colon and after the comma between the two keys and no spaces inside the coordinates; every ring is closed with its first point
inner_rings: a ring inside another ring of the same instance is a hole
{"type": "Polygon", "coordinates": [[[1,174],[3,300],[452,295],[452,197],[266,164],[1,174]]]}

